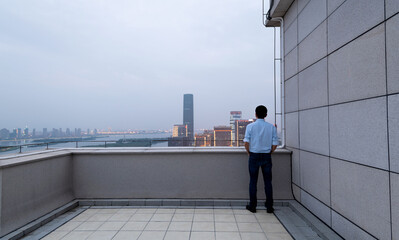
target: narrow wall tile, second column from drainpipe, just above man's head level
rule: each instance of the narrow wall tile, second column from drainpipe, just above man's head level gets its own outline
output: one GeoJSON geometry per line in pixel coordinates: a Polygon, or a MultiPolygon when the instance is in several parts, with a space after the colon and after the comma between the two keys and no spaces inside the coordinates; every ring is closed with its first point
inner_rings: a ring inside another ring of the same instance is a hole
{"type": "Polygon", "coordinates": [[[300,72],[298,87],[299,109],[327,105],[327,58],[300,72]]]}

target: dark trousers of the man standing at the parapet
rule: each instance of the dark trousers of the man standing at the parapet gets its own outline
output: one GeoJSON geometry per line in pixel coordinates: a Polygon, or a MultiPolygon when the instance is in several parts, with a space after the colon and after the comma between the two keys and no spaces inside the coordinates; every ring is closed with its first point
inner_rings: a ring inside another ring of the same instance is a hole
{"type": "Polygon", "coordinates": [[[266,208],[273,207],[273,187],[272,187],[272,157],[270,153],[250,153],[249,161],[249,201],[251,207],[257,206],[257,184],[259,168],[262,169],[263,181],[266,193],[266,208]]]}

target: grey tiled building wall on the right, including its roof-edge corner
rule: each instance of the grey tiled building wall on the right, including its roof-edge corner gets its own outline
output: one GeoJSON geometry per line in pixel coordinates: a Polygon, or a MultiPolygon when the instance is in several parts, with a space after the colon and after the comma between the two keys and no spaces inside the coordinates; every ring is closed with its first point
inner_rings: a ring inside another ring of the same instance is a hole
{"type": "Polygon", "coordinates": [[[295,198],[345,239],[399,239],[399,1],[274,1],[295,198]]]}

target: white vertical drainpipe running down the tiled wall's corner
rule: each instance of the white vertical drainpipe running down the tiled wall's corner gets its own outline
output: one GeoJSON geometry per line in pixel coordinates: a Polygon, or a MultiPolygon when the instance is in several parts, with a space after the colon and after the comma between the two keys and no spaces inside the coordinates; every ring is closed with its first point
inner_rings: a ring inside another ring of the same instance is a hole
{"type": "Polygon", "coordinates": [[[279,148],[285,148],[285,91],[284,91],[284,19],[282,17],[272,18],[272,21],[280,22],[280,90],[281,90],[281,146],[279,148]]]}

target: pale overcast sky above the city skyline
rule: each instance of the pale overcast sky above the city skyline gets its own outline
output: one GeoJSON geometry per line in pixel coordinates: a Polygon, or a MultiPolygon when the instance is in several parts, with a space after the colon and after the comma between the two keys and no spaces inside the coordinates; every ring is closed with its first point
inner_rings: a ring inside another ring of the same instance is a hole
{"type": "Polygon", "coordinates": [[[273,113],[261,0],[0,2],[0,128],[195,129],[273,113]]]}

